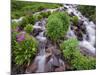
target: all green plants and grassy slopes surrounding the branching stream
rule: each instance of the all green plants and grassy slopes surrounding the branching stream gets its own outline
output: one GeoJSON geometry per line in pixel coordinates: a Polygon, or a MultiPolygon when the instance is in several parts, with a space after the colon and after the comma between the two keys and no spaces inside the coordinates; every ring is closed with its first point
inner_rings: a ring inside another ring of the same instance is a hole
{"type": "MultiPolygon", "coordinates": [[[[11,51],[12,65],[15,65],[14,68],[16,68],[16,66],[26,67],[26,64],[33,61],[37,53],[38,42],[32,34],[34,35],[36,32],[36,35],[38,35],[38,33],[41,32],[41,29],[38,28],[33,32],[33,25],[44,18],[46,18],[45,33],[48,39],[50,38],[48,41],[50,41],[51,45],[56,45],[57,49],[62,51],[61,55],[64,58],[64,62],[68,63],[71,70],[89,70],[96,68],[96,58],[84,56],[80,52],[77,39],[68,38],[64,40],[70,21],[73,25],[78,25],[79,19],[77,16],[69,17],[69,14],[63,11],[54,11],[52,13],[50,11],[45,12],[45,9],[58,8],[62,6],[61,4],[16,0],[11,0],[11,3],[11,18],[16,19],[22,17],[22,21],[12,21],[11,23],[11,51]],[[34,14],[35,12],[39,13],[34,14]],[[59,43],[61,43],[60,47],[59,43]]],[[[96,21],[95,7],[79,5],[78,10],[90,20],[96,21]]],[[[49,46],[46,45],[46,47],[49,46]]]]}

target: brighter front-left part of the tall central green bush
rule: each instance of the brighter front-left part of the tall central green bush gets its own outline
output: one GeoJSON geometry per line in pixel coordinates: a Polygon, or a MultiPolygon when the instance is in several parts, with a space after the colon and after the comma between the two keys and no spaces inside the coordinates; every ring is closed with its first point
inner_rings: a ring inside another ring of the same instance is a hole
{"type": "Polygon", "coordinates": [[[64,36],[63,24],[60,19],[53,18],[48,22],[47,36],[53,41],[57,41],[57,39],[60,39],[62,36],[64,36]]]}

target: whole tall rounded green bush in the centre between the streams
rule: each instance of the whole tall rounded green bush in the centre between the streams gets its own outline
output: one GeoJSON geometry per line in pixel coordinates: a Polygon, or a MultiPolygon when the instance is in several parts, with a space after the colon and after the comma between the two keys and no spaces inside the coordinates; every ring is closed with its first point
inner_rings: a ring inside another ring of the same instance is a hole
{"type": "Polygon", "coordinates": [[[57,41],[64,37],[69,28],[69,16],[65,12],[55,12],[48,17],[47,36],[57,41]]]}

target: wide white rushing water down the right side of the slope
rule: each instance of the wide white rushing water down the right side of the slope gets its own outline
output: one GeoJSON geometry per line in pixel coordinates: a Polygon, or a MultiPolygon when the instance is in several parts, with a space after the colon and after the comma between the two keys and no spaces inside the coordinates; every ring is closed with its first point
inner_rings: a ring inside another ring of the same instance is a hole
{"type": "MultiPolygon", "coordinates": [[[[77,16],[80,20],[82,20],[86,27],[86,32],[87,32],[87,35],[89,37],[89,40],[86,39],[86,34],[84,34],[84,37],[83,37],[83,41],[80,41],[79,42],[79,46],[81,47],[84,47],[86,49],[88,49],[89,51],[91,51],[94,55],[95,55],[95,52],[96,52],[96,49],[94,47],[95,45],[95,39],[96,39],[96,30],[95,30],[95,27],[96,25],[92,22],[92,21],[89,21],[88,18],[86,18],[85,16],[83,16],[78,10],[77,10],[77,6],[76,5],[64,5],[66,9],[66,11],[71,14],[73,13],[75,16],[77,16]]],[[[72,31],[71,29],[69,29],[68,33],[67,33],[67,36],[68,37],[76,37],[75,36],[75,33],[74,31],[72,31]]]]}

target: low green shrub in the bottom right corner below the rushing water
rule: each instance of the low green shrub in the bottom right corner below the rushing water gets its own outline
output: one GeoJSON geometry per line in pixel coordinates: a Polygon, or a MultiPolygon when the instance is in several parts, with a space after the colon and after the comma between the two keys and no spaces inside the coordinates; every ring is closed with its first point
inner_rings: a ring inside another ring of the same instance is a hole
{"type": "Polygon", "coordinates": [[[96,60],[93,57],[86,57],[80,53],[75,54],[76,58],[71,61],[74,70],[90,70],[96,68],[96,60]]]}

